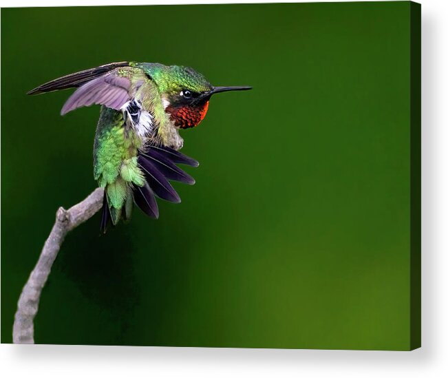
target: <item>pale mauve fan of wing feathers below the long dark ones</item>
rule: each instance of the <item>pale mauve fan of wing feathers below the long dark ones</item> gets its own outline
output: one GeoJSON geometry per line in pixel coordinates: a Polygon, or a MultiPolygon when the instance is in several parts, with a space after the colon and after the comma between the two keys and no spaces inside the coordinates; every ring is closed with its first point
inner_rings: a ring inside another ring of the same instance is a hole
{"type": "Polygon", "coordinates": [[[67,114],[82,106],[101,104],[119,110],[131,99],[129,78],[116,76],[114,72],[95,78],[79,87],[64,104],[61,114],[67,114]]]}

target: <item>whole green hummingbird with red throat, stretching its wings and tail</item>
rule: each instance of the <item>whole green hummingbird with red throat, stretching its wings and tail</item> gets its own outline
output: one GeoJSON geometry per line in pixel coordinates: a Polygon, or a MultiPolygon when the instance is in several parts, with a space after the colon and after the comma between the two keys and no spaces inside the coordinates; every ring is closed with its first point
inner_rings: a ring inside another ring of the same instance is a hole
{"type": "Polygon", "coordinates": [[[101,105],[94,140],[94,178],[105,189],[100,229],[131,218],[134,203],[158,218],[156,196],[178,203],[170,180],[193,185],[177,164],[198,167],[179,152],[180,129],[196,127],[213,94],[251,87],[215,87],[191,67],[123,61],[69,74],[28,94],[76,88],[61,115],[101,105]]]}

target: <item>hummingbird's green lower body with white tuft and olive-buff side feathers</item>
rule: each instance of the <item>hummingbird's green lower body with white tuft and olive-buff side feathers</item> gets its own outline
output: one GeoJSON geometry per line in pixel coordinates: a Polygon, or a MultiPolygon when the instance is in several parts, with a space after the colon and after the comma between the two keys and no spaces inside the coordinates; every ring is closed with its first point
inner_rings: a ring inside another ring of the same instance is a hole
{"type": "MultiPolygon", "coordinates": [[[[178,137],[164,112],[162,100],[156,85],[144,71],[136,67],[122,67],[115,71],[118,78],[129,81],[128,92],[138,108],[126,111],[102,106],[94,143],[94,177],[98,185],[105,188],[111,220],[117,224],[120,218],[131,216],[133,206],[132,191],[145,186],[145,176],[138,165],[138,152],[148,143],[170,145],[170,140],[178,137]],[[132,112],[147,114],[146,125],[140,117],[133,122],[132,112]],[[146,127],[146,128],[145,128],[146,127]],[[151,128],[151,131],[147,128],[151,128]]],[[[180,138],[180,137],[179,137],[180,138]]]]}

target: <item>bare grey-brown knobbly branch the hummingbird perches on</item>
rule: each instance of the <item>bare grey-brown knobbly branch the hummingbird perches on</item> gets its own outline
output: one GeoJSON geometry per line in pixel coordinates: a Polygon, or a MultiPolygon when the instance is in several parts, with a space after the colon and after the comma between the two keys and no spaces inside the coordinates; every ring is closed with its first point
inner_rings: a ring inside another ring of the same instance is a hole
{"type": "Polygon", "coordinates": [[[19,297],[12,328],[14,344],[34,344],[34,317],[39,309],[42,288],[47,282],[65,235],[101,209],[103,193],[103,188],[97,188],[85,200],[75,204],[70,209],[65,210],[60,207],[56,212],[56,222],[54,222],[50,236],[45,241],[39,260],[34,266],[28,282],[23,286],[19,297]]]}

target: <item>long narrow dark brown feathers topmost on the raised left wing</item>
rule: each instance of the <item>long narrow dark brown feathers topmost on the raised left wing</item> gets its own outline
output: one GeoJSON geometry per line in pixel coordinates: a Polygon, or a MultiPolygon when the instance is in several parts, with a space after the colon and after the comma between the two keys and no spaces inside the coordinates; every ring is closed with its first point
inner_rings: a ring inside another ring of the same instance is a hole
{"type": "Polygon", "coordinates": [[[109,63],[100,65],[100,67],[90,68],[89,70],[75,72],[74,74],[56,78],[48,83],[39,85],[39,87],[34,88],[34,90],[30,90],[28,94],[40,94],[56,90],[66,90],[67,88],[77,88],[84,83],[87,83],[87,81],[91,81],[94,78],[107,74],[107,72],[110,72],[111,70],[127,66],[129,66],[129,62],[109,63]]]}

